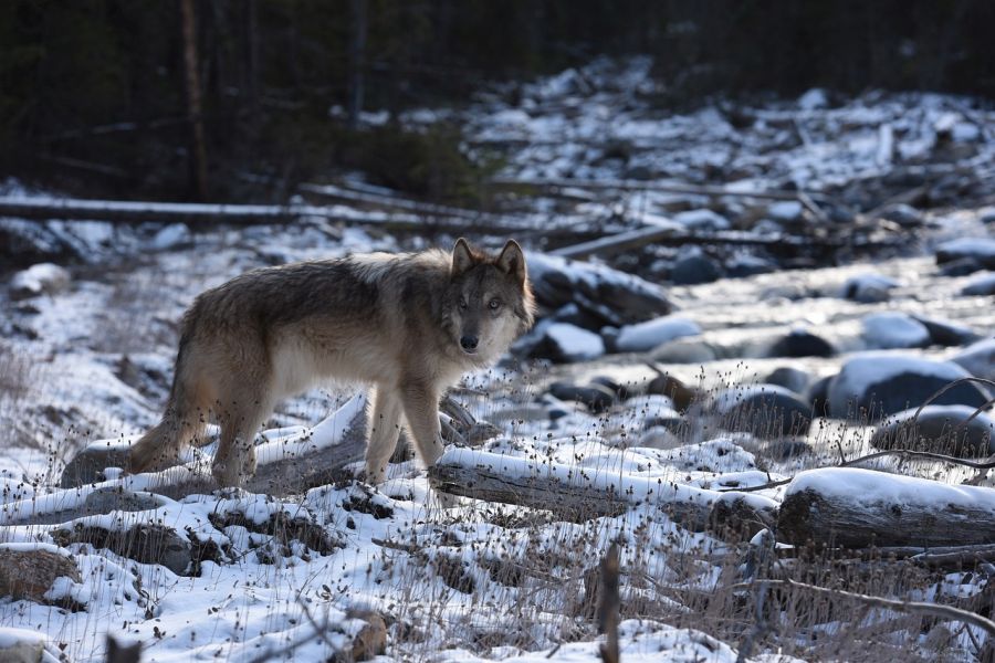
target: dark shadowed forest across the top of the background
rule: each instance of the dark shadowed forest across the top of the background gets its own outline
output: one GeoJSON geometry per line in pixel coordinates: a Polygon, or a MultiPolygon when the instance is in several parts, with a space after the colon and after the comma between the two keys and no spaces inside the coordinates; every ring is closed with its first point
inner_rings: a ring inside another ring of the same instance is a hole
{"type": "Polygon", "coordinates": [[[451,198],[433,170],[468,167],[458,134],[349,120],[625,53],[654,57],[667,106],[813,86],[992,98],[993,27],[991,0],[9,0],[0,173],[245,199],[239,173],[342,167],[451,198]]]}

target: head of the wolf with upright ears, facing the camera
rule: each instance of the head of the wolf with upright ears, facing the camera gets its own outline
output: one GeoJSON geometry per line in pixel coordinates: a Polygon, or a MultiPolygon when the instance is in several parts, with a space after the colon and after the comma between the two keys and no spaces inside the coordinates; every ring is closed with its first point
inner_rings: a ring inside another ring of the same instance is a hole
{"type": "Polygon", "coordinates": [[[468,359],[488,364],[504,352],[535,316],[519,243],[509,240],[495,256],[460,238],[452,249],[446,306],[452,341],[468,359]]]}

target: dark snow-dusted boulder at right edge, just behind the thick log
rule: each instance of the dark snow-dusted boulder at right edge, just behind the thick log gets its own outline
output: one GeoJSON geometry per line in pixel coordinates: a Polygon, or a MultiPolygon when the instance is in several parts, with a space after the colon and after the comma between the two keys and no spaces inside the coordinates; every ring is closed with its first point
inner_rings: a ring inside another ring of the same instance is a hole
{"type": "Polygon", "coordinates": [[[995,454],[995,420],[981,413],[966,424],[975,409],[967,406],[926,406],[902,410],[884,420],[871,436],[876,449],[910,449],[957,457],[995,454]]]}

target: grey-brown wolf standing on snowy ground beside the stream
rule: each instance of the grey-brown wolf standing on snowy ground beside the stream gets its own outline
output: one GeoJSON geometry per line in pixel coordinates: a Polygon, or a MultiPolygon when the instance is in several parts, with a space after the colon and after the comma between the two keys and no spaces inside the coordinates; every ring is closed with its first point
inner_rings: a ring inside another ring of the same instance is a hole
{"type": "Polygon", "coordinates": [[[255,433],[276,403],[323,380],[374,390],[366,478],[378,484],[407,423],[421,461],[442,455],[439,399],[484,368],[534,320],[525,255],[460,238],[451,252],[353,254],[242,274],[184,315],[161,421],[129,451],[128,471],[164,469],[203,427],[221,427],[211,472],[240,486],[255,472],[255,433]]]}

